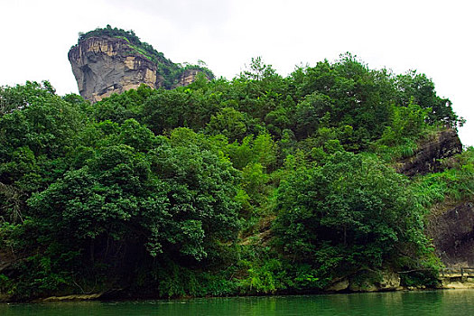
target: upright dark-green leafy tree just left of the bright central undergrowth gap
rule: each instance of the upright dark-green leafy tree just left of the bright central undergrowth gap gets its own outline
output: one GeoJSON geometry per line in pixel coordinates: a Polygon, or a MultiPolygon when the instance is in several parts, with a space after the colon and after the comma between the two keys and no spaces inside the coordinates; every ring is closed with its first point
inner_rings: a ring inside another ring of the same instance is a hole
{"type": "Polygon", "coordinates": [[[237,237],[238,178],[227,160],[196,145],[161,146],[153,154],[152,170],[170,188],[171,228],[160,231],[171,244],[200,259],[214,243],[237,237]]]}

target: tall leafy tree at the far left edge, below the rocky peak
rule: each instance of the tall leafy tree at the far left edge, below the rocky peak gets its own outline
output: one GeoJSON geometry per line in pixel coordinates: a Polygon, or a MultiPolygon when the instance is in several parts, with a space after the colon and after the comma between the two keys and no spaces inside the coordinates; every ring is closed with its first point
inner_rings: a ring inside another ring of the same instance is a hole
{"type": "Polygon", "coordinates": [[[0,100],[0,217],[17,223],[25,205],[67,168],[66,155],[88,119],[83,105],[56,96],[47,81],[2,88],[0,100]]]}

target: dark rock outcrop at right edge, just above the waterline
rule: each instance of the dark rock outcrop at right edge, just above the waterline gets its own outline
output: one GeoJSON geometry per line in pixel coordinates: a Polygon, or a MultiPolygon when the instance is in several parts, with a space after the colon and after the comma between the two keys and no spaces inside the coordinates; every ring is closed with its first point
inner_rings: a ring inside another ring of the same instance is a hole
{"type": "Polygon", "coordinates": [[[474,200],[434,209],[426,233],[444,265],[474,266],[474,200]]]}

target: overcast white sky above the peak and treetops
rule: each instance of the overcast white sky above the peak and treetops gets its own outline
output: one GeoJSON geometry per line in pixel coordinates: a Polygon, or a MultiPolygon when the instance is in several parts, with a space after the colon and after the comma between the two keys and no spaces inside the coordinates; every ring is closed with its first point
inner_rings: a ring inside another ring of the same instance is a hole
{"type": "Polygon", "coordinates": [[[68,51],[79,32],[134,30],[174,62],[234,78],[262,56],[283,76],[350,51],[372,69],[418,70],[468,123],[474,145],[474,12],[469,0],[0,0],[0,85],[51,81],[79,93],[68,51]]]}

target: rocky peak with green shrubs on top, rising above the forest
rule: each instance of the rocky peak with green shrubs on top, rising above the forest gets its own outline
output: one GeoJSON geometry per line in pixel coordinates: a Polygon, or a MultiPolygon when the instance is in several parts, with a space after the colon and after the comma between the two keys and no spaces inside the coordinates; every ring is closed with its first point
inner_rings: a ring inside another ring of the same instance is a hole
{"type": "Polygon", "coordinates": [[[187,86],[199,72],[213,78],[210,70],[182,68],[140,42],[135,33],[109,26],[81,35],[68,58],[79,94],[93,103],[142,84],[151,88],[187,86]]]}

